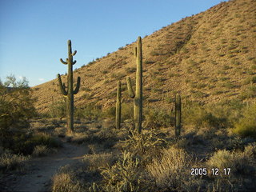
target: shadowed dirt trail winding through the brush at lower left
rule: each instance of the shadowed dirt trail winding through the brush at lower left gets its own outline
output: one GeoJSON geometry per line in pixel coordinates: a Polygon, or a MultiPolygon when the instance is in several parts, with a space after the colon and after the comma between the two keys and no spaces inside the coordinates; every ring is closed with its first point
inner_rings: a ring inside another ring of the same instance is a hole
{"type": "Polygon", "coordinates": [[[34,158],[29,162],[26,174],[18,176],[16,182],[10,186],[11,191],[50,191],[50,179],[59,167],[81,161],[88,152],[84,145],[63,143],[63,148],[56,154],[43,158],[34,158]]]}

